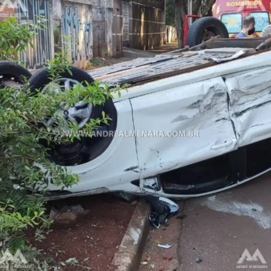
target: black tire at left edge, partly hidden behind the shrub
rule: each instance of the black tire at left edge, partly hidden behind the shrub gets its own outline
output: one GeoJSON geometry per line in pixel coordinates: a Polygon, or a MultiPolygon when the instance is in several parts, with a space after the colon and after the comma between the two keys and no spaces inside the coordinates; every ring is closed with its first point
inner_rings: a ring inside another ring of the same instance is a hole
{"type": "MultiPolygon", "coordinates": [[[[24,67],[10,61],[0,61],[0,76],[6,79],[14,78],[14,81],[20,84],[25,83],[32,74],[24,67]]],[[[0,81],[2,81],[0,79],[0,81]]]]}

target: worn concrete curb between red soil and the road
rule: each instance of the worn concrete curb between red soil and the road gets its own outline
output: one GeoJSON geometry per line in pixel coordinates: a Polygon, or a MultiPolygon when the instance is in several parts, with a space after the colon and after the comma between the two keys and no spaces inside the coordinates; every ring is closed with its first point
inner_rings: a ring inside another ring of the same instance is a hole
{"type": "Polygon", "coordinates": [[[144,201],[138,202],[123,236],[119,251],[111,262],[110,270],[138,270],[150,230],[149,211],[150,206],[147,203],[144,201]]]}

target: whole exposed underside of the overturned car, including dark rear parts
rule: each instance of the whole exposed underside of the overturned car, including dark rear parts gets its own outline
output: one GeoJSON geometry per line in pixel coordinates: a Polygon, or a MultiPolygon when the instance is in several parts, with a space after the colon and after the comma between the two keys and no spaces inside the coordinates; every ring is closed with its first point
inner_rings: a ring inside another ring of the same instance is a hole
{"type": "Polygon", "coordinates": [[[89,74],[94,79],[112,86],[125,83],[133,86],[140,85],[218,65],[221,62],[259,54],[269,50],[258,50],[258,48],[266,48],[266,42],[271,46],[270,37],[239,39],[212,37],[210,40],[189,49],[175,50],[148,58],[137,58],[91,70],[89,74]]]}

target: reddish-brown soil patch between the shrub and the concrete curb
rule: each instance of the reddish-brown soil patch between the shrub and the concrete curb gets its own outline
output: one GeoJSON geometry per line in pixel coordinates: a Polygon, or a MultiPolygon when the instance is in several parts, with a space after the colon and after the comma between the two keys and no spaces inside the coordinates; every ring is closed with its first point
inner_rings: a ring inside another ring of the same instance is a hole
{"type": "Polygon", "coordinates": [[[50,266],[65,263],[62,271],[105,271],[119,249],[136,205],[104,194],[49,201],[46,207],[54,218],[59,212],[79,215],[73,227],[59,224],[42,242],[35,241],[35,229],[26,232],[30,244],[42,250],[44,260],[50,261],[50,266]],[[76,263],[71,260],[74,258],[76,263]],[[67,264],[67,260],[74,264],[67,264]]]}

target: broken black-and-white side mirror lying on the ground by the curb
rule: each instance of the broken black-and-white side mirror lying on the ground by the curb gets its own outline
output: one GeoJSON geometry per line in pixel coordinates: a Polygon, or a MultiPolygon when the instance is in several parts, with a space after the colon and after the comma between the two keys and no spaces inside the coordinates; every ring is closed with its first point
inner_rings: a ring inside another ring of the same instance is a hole
{"type": "Polygon", "coordinates": [[[151,204],[149,220],[151,225],[159,229],[167,223],[169,218],[178,213],[179,205],[168,198],[148,196],[146,200],[151,204]]]}

